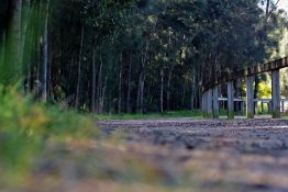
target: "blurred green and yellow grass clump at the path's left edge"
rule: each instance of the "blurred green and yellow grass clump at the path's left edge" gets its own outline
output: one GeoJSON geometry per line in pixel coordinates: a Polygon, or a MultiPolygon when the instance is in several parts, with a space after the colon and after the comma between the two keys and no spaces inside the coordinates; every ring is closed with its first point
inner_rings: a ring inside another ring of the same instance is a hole
{"type": "Polygon", "coordinates": [[[93,122],[70,111],[34,103],[15,87],[0,86],[0,184],[25,182],[48,140],[97,137],[93,122]]]}

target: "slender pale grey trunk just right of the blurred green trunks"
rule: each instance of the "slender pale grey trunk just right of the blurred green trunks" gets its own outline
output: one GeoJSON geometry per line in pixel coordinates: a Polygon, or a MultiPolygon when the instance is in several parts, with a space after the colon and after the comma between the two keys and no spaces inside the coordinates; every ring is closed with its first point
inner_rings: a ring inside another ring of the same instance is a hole
{"type": "Polygon", "coordinates": [[[47,101],[47,79],[48,79],[48,16],[49,16],[49,0],[45,4],[45,24],[43,34],[43,65],[42,65],[42,101],[47,101]]]}

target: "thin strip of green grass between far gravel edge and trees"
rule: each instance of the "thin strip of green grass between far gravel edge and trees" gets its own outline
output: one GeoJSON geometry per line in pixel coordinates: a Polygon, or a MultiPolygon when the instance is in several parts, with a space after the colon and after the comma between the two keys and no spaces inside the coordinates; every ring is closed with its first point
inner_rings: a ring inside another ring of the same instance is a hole
{"type": "Polygon", "coordinates": [[[174,118],[174,117],[191,117],[203,118],[201,111],[169,111],[165,113],[148,114],[108,114],[95,115],[97,120],[156,120],[156,118],[174,118]]]}

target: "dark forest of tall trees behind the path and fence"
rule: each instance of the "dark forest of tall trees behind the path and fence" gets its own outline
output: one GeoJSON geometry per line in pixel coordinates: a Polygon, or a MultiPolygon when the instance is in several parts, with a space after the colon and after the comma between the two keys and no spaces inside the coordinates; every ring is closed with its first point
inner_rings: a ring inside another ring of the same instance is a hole
{"type": "Polygon", "coordinates": [[[277,50],[285,19],[276,8],[270,0],[2,0],[1,83],[22,80],[36,99],[93,113],[198,109],[203,83],[277,50]]]}

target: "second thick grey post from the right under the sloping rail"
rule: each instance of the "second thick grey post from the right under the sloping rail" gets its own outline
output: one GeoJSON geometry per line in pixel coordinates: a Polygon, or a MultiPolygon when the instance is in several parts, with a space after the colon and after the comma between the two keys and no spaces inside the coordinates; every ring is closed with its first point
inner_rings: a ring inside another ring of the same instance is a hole
{"type": "Polygon", "coordinates": [[[246,79],[246,117],[254,118],[254,97],[253,97],[254,77],[248,76],[246,79]]]}

